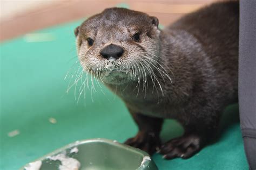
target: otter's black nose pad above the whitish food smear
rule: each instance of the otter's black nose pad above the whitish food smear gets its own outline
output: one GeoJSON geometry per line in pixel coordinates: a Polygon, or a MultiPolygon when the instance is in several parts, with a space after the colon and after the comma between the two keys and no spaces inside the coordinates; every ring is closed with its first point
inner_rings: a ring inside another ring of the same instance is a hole
{"type": "Polygon", "coordinates": [[[110,44],[102,49],[100,54],[105,58],[109,59],[111,56],[115,59],[119,59],[124,53],[124,49],[117,45],[110,44]]]}

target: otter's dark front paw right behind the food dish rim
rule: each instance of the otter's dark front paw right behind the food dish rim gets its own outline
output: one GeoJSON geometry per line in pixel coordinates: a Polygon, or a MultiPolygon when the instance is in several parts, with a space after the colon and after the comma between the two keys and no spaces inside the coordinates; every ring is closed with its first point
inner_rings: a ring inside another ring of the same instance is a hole
{"type": "Polygon", "coordinates": [[[159,135],[154,132],[138,132],[135,137],[127,139],[124,144],[139,148],[152,155],[159,148],[160,143],[159,135]]]}

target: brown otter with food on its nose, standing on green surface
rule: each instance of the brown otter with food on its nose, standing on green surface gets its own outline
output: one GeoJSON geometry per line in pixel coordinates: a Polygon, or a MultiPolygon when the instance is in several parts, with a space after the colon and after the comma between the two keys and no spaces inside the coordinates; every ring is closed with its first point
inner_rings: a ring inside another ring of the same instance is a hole
{"type": "Polygon", "coordinates": [[[80,64],[126,104],[138,133],[125,144],[190,158],[238,101],[239,3],[215,3],[160,30],[146,13],[109,8],[75,29],[80,64]],[[161,144],[164,119],[184,127],[161,144]]]}

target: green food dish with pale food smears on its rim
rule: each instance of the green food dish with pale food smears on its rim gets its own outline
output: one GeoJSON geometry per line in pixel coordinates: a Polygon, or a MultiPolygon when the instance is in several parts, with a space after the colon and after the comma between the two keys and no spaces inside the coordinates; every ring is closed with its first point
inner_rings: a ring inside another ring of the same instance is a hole
{"type": "Polygon", "coordinates": [[[80,140],[21,169],[29,170],[158,170],[146,152],[109,139],[80,140]],[[39,168],[40,167],[40,168],[39,168]]]}

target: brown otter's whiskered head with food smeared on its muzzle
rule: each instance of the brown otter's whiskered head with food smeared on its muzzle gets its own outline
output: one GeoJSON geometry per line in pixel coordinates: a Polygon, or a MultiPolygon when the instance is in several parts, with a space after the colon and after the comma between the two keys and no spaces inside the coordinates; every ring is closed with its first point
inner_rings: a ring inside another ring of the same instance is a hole
{"type": "Polygon", "coordinates": [[[87,73],[104,83],[144,80],[157,68],[159,33],[156,17],[106,9],[76,28],[78,58],[87,73]]]}

